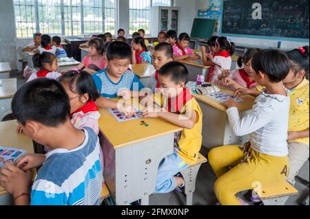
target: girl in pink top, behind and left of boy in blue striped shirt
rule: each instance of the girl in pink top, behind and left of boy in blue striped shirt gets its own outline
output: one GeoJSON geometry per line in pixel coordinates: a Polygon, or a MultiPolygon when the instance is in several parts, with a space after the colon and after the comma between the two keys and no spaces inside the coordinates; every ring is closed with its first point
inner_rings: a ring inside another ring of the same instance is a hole
{"type": "MultiPolygon", "coordinates": [[[[102,69],[105,69],[105,58],[103,56],[103,41],[101,38],[92,38],[89,43],[88,55],[85,56],[81,64],[77,65],[76,69],[83,69],[90,74],[94,74],[102,69]]],[[[65,69],[61,73],[71,71],[65,69]]]]}

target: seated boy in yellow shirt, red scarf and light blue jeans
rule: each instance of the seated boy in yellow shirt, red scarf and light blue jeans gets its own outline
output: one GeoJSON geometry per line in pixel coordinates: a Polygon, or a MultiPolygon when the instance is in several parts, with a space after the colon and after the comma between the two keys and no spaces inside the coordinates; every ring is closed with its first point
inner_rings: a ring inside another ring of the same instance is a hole
{"type": "Polygon", "coordinates": [[[188,71],[182,63],[167,63],[158,74],[162,96],[157,98],[160,94],[155,94],[155,102],[161,108],[156,110],[148,104],[143,109],[145,118],[160,117],[184,128],[175,135],[174,153],[165,157],[158,167],[156,193],[168,193],[176,187],[183,187],[182,176],[176,175],[198,159],[202,144],[203,114],[191,91],[185,89],[187,80],[188,71]]]}

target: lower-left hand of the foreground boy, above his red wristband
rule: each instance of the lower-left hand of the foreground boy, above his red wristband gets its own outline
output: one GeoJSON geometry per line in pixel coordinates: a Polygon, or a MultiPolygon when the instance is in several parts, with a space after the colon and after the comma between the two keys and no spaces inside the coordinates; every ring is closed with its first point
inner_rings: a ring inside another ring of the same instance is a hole
{"type": "Polygon", "coordinates": [[[4,163],[6,168],[0,169],[0,185],[15,197],[23,193],[29,193],[32,172],[24,172],[10,163],[4,163]]]}

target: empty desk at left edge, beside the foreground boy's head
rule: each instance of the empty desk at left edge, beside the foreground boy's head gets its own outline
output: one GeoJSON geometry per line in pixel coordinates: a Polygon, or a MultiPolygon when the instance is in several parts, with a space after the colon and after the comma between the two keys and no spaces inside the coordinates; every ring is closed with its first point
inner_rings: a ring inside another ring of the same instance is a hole
{"type": "Polygon", "coordinates": [[[12,113],[11,102],[17,91],[17,79],[0,79],[0,122],[6,115],[12,113]]]}

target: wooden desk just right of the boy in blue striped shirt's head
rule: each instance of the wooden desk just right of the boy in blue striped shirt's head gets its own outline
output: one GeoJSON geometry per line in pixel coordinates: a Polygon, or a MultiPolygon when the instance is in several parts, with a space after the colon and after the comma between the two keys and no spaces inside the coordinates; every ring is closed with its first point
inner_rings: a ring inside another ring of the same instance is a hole
{"type": "Polygon", "coordinates": [[[152,75],[155,73],[156,69],[154,65],[150,64],[135,64],[130,65],[132,72],[136,74],[144,87],[149,87],[152,89],[152,84],[150,84],[152,75]]]}

